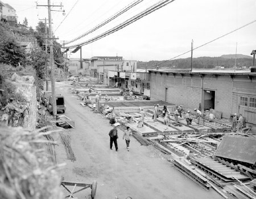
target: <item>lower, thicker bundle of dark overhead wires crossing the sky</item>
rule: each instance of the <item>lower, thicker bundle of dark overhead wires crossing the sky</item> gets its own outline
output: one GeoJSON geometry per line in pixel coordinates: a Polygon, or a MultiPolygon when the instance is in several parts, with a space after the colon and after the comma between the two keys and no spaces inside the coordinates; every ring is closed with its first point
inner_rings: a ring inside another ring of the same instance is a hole
{"type": "Polygon", "coordinates": [[[144,10],[144,11],[140,12],[139,14],[131,17],[130,19],[127,19],[125,22],[119,24],[118,26],[115,26],[112,29],[109,29],[108,31],[102,33],[101,35],[93,37],[92,39],[84,41],[83,43],[67,46],[65,48],[76,48],[77,46],[83,46],[83,45],[86,45],[86,44],[93,43],[94,41],[97,41],[97,40],[101,39],[102,37],[108,36],[108,35],[110,35],[110,34],[112,34],[114,32],[119,31],[119,29],[125,28],[129,24],[136,22],[137,20],[143,18],[144,16],[146,16],[148,14],[151,14],[151,12],[154,12],[154,11],[156,11],[156,10],[158,10],[158,9],[160,9],[160,8],[166,6],[169,3],[172,3],[174,1],[175,0],[162,0],[162,1],[159,1],[158,3],[155,3],[155,5],[152,5],[151,7],[148,7],[146,10],[144,10]]]}

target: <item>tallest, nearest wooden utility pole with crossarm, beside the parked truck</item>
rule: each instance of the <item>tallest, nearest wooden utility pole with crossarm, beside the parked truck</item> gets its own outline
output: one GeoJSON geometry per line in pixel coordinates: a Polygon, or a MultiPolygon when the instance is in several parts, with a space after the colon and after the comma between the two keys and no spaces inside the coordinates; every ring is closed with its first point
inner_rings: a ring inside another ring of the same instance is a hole
{"type": "Polygon", "coordinates": [[[51,7],[63,7],[63,5],[51,5],[51,0],[48,0],[47,5],[38,5],[36,7],[46,6],[48,7],[48,20],[49,20],[49,49],[50,49],[50,66],[51,66],[51,90],[52,90],[52,115],[56,116],[57,114],[57,105],[56,105],[56,95],[55,95],[55,67],[53,65],[53,36],[52,36],[52,15],[51,7]]]}

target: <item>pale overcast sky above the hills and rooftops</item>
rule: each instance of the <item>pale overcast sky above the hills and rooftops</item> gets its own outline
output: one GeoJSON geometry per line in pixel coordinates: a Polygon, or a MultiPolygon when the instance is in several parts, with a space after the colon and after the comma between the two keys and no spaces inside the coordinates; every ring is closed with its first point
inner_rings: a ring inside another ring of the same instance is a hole
{"type": "MultiPolygon", "coordinates": [[[[48,18],[47,7],[36,9],[33,0],[3,2],[14,7],[20,23],[26,16],[28,26],[35,27],[39,19],[48,18]]],[[[53,31],[55,37],[59,37],[59,43],[74,39],[97,26],[134,0],[51,0],[53,5],[60,5],[60,2],[64,6],[66,16],[70,12],[61,23],[65,16],[62,12],[52,11],[53,31]]],[[[156,2],[158,1],[144,0],[113,22],[72,44],[100,35],[156,2]]],[[[47,5],[47,0],[38,0],[38,5],[47,5]]],[[[52,7],[52,10],[60,8],[52,7]]],[[[255,0],[176,0],[112,35],[83,46],[82,57],[122,56],[126,60],[169,60],[191,49],[192,39],[196,47],[253,20],[256,20],[255,0]]],[[[251,50],[256,49],[255,32],[256,22],[194,50],[193,57],[236,54],[236,44],[238,54],[250,55],[251,50]]],[[[69,56],[80,57],[80,52],[69,56]]],[[[189,56],[190,53],[187,53],[179,58],[189,56]]]]}

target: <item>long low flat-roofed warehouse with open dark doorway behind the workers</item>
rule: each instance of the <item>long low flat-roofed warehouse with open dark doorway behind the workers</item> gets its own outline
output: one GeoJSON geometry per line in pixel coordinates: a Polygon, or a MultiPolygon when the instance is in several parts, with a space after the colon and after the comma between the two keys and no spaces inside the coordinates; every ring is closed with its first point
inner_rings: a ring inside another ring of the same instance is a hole
{"type": "Polygon", "coordinates": [[[151,98],[188,109],[213,108],[229,118],[241,113],[256,125],[256,73],[218,70],[149,70],[151,98]]]}

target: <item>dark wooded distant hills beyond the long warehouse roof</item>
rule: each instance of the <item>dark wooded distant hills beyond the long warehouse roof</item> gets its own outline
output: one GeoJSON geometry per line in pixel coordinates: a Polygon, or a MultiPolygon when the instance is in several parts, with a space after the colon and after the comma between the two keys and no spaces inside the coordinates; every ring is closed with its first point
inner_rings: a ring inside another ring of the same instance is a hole
{"type": "MultiPolygon", "coordinates": [[[[224,55],[233,56],[233,55],[224,55]]],[[[242,55],[241,56],[245,56],[242,55]]],[[[224,66],[225,68],[232,68],[235,65],[234,58],[224,58],[224,57],[197,57],[193,58],[193,68],[194,69],[213,69],[216,66],[224,66]]],[[[183,58],[171,61],[148,61],[137,63],[138,69],[155,69],[156,65],[159,65],[160,68],[166,69],[189,69],[191,67],[191,58],[183,58]],[[164,62],[164,63],[162,63],[164,62]]],[[[253,59],[250,56],[245,56],[245,58],[237,58],[237,67],[242,66],[252,66],[253,59]]]]}

